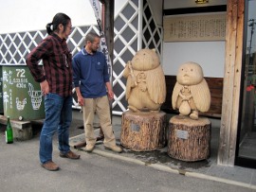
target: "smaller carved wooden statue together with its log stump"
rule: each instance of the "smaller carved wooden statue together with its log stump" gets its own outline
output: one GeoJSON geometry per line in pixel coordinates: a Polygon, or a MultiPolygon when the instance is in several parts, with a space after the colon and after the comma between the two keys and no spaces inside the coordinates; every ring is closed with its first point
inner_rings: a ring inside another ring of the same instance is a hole
{"type": "Polygon", "coordinates": [[[210,120],[198,112],[210,109],[210,90],[199,64],[182,64],[172,96],[174,115],[169,121],[169,156],[183,161],[200,161],[210,156],[210,120]]]}

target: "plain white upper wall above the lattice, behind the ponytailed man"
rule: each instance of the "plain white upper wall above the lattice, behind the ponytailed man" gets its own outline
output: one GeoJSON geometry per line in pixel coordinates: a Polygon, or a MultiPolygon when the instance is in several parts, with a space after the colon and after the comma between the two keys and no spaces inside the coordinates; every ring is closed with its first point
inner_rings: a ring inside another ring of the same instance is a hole
{"type": "MultiPolygon", "coordinates": [[[[115,14],[128,0],[115,1],[115,14]]],[[[57,12],[64,12],[72,26],[96,24],[89,0],[0,0],[0,34],[46,29],[57,12]]]]}

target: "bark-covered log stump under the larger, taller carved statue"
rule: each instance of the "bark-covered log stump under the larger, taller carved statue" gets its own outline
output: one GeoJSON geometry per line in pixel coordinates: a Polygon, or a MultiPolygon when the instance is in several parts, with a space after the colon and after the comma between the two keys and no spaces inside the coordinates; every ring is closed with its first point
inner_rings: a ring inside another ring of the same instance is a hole
{"type": "Polygon", "coordinates": [[[134,151],[151,151],[166,144],[166,113],[122,113],[120,143],[134,151]]]}

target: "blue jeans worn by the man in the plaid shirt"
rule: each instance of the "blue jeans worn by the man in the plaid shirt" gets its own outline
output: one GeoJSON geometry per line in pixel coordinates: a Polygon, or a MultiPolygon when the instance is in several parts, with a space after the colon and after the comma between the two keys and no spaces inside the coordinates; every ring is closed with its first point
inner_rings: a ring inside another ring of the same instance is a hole
{"type": "Polygon", "coordinates": [[[69,146],[69,127],[72,121],[72,96],[47,94],[45,96],[46,119],[40,134],[39,157],[45,164],[52,161],[52,137],[58,131],[59,150],[66,153],[69,146]]]}

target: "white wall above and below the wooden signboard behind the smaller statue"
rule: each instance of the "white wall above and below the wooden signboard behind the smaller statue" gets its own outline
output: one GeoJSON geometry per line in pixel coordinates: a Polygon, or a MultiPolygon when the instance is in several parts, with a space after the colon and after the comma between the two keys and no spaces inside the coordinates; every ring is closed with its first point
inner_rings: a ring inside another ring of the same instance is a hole
{"type": "MultiPolygon", "coordinates": [[[[210,4],[207,5],[225,5],[226,2],[226,0],[216,0],[210,1],[210,4]]],[[[198,6],[195,5],[194,1],[164,0],[164,9],[190,7],[198,6]]],[[[179,66],[186,61],[199,63],[203,68],[205,77],[223,78],[225,69],[225,41],[163,44],[162,65],[165,75],[175,76],[179,66]]]]}

